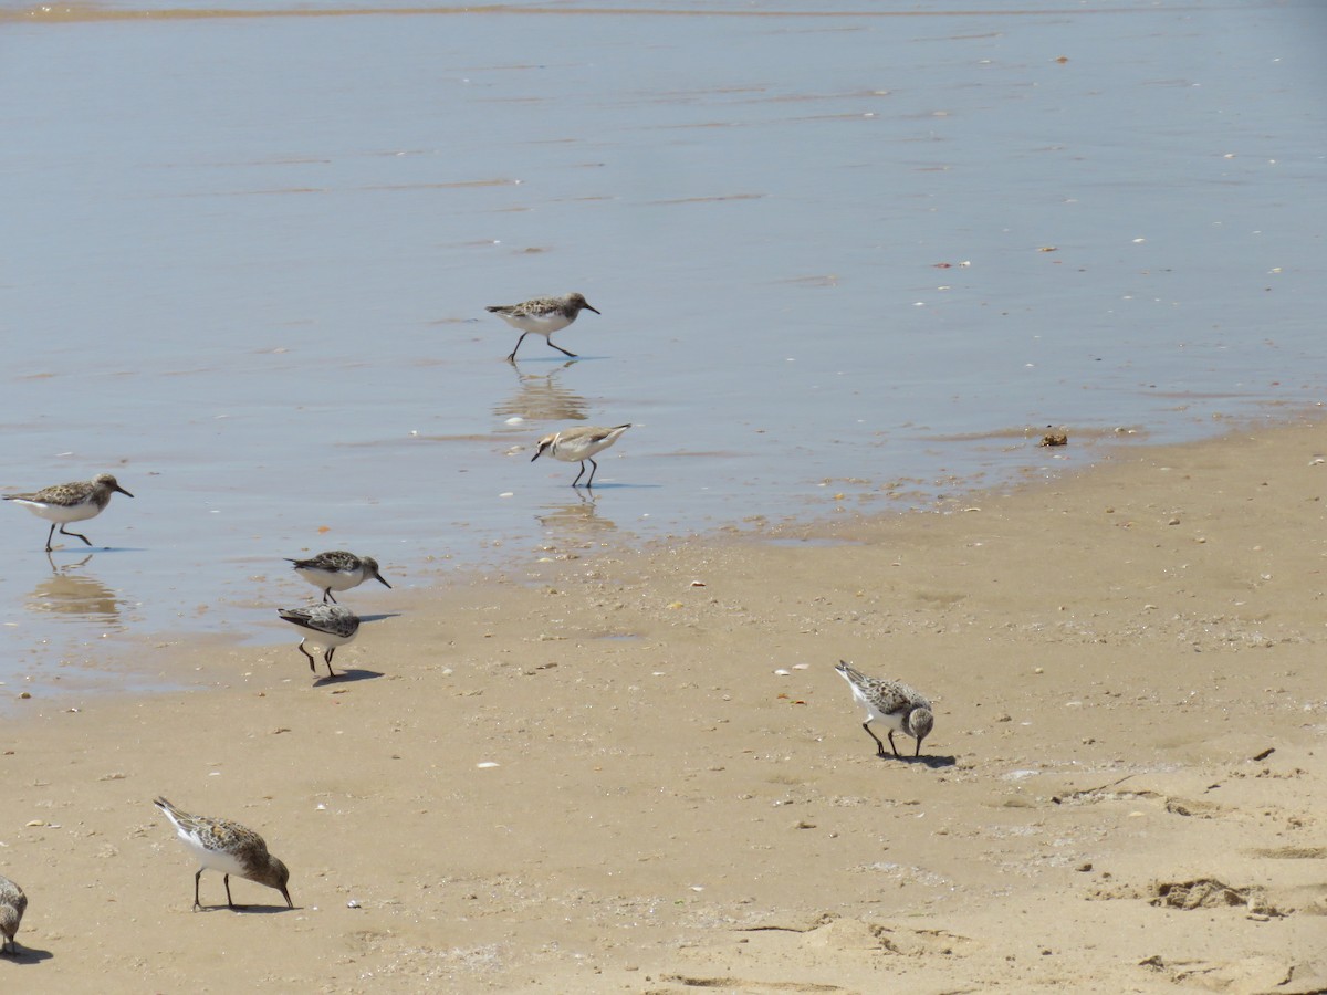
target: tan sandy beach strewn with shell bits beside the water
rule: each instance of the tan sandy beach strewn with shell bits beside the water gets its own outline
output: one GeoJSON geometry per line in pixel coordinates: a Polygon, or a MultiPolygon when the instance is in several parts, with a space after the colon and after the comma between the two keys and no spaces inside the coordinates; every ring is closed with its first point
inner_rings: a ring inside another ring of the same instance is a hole
{"type": "Polygon", "coordinates": [[[783,543],[573,539],[536,582],[349,592],[399,614],[342,681],[292,631],[159,657],[207,690],[38,693],[0,988],[1323,991],[1322,455],[1303,423],[783,543]],[[934,698],[921,762],[840,657],[934,698]],[[191,911],[158,793],[261,832],[297,909],[206,872],[191,911]]]}

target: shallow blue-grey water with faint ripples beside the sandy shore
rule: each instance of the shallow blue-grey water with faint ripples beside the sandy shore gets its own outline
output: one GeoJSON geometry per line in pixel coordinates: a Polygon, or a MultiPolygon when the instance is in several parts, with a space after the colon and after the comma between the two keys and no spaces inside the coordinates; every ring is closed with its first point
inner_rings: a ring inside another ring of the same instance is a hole
{"type": "Polygon", "coordinates": [[[135,494],[49,560],[0,508],[0,679],[291,638],[283,556],[429,585],[1323,394],[1312,4],[215,7],[0,3],[0,490],[135,494]],[[504,362],[484,305],[571,289],[580,358],[504,362]],[[628,421],[593,495],[529,463],[628,421]]]}

